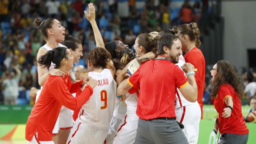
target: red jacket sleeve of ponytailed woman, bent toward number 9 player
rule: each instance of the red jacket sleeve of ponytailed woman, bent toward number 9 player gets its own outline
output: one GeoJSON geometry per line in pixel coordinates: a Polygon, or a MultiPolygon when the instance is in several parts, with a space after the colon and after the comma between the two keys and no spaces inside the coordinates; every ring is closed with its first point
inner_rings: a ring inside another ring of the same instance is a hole
{"type": "Polygon", "coordinates": [[[51,92],[54,99],[70,110],[80,109],[88,101],[93,93],[91,86],[87,85],[80,95],[73,97],[62,78],[56,77],[52,81],[54,91],[51,92]]]}

